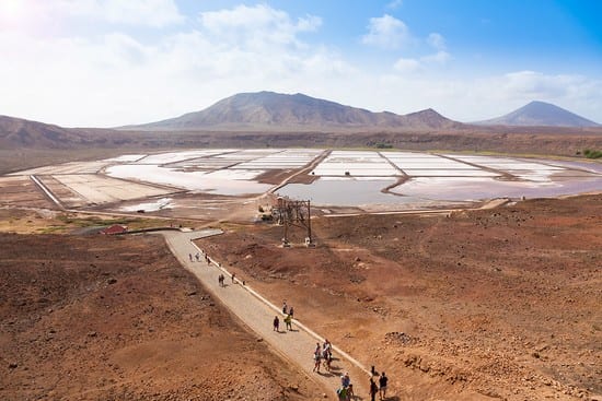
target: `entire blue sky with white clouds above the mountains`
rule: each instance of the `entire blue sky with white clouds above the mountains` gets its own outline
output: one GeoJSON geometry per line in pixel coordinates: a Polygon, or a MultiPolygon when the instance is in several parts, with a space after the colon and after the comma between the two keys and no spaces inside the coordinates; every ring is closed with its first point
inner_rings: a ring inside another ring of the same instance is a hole
{"type": "Polygon", "coordinates": [[[0,0],[0,115],[117,127],[242,92],[602,122],[599,0],[0,0]]]}

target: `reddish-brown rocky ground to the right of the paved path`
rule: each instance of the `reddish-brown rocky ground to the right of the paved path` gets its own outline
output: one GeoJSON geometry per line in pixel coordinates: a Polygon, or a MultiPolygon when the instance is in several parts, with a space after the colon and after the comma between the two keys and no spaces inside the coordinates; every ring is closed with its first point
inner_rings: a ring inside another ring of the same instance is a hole
{"type": "Polygon", "coordinates": [[[267,225],[200,245],[400,400],[602,399],[601,194],[312,228],[313,249],[267,225]]]}

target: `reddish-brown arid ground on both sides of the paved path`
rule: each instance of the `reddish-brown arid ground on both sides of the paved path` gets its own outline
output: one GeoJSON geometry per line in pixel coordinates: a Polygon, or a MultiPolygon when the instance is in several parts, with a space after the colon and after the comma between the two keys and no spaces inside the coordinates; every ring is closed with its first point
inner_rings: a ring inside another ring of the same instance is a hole
{"type": "Polygon", "coordinates": [[[0,209],[2,399],[322,399],[160,236],[83,235],[125,221],[219,225],[225,234],[199,245],[385,370],[391,400],[602,400],[602,194],[321,216],[314,248],[298,246],[301,231],[281,248],[282,227],[268,223],[103,222],[32,201],[0,209]]]}

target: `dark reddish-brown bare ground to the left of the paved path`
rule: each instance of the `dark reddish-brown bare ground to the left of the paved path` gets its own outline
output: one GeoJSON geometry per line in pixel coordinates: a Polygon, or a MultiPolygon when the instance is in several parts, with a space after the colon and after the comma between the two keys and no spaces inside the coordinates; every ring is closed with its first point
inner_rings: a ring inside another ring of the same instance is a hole
{"type": "Polygon", "coordinates": [[[0,234],[0,399],[306,400],[160,236],[0,234]]]}

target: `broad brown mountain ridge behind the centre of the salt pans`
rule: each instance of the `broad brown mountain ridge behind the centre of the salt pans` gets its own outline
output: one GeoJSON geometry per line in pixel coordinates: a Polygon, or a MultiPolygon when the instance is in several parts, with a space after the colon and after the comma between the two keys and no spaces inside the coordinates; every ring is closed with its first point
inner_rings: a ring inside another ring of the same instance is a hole
{"type": "Polygon", "coordinates": [[[123,127],[138,130],[221,129],[302,129],[320,128],[454,128],[462,126],[432,109],[400,116],[372,113],[362,108],[310,97],[274,92],[240,93],[195,113],[141,126],[123,127]]]}

